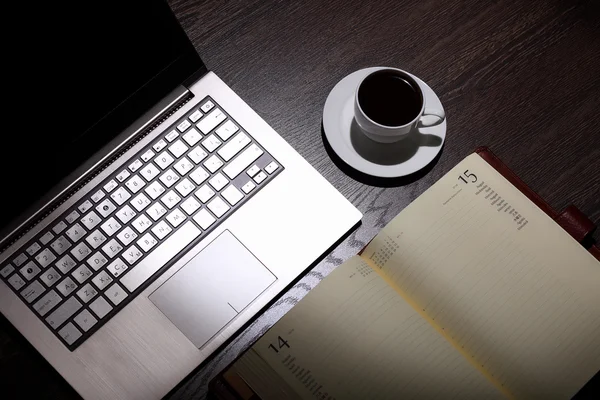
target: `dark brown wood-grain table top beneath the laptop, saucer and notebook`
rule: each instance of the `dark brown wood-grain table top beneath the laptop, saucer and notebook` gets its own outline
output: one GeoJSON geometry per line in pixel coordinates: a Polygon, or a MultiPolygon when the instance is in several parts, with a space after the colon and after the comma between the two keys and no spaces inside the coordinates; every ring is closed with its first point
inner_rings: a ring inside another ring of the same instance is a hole
{"type": "MultiPolygon", "coordinates": [[[[203,398],[208,381],[242,349],[479,145],[490,146],[554,207],[574,203],[600,223],[599,2],[170,3],[207,66],[364,214],[357,231],[172,398],[203,398]],[[331,88],[357,69],[379,65],[418,75],[446,109],[442,155],[412,182],[349,176],[323,145],[321,113],[331,88]]],[[[32,383],[18,386],[23,395],[77,396],[4,318],[0,368],[0,390],[11,392],[21,377],[32,383]]]]}

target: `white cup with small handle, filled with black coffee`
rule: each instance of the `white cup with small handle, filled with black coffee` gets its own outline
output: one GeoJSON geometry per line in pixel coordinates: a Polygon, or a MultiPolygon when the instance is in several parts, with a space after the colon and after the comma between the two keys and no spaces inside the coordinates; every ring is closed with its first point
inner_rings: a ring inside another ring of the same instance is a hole
{"type": "Polygon", "coordinates": [[[371,72],[358,84],[354,118],[371,140],[393,143],[419,126],[441,123],[446,115],[443,110],[426,106],[423,90],[410,74],[397,68],[383,68],[371,72]],[[429,115],[437,120],[424,118],[429,115]]]}

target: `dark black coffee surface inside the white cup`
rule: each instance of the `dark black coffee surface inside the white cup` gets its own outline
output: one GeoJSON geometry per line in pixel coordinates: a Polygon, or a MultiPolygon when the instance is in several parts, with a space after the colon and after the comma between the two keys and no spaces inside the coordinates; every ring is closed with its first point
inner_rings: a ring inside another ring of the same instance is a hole
{"type": "Polygon", "coordinates": [[[358,104],[367,117],[381,125],[401,126],[414,120],[423,98],[417,83],[396,71],[377,71],[358,88],[358,104]]]}

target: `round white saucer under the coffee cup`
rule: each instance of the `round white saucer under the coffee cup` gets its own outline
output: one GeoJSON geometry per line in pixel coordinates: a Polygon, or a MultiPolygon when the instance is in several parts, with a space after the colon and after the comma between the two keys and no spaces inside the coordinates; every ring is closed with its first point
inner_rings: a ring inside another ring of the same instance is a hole
{"type": "MultiPolygon", "coordinates": [[[[335,85],[325,101],[323,129],[333,151],[352,168],[371,176],[397,178],[425,168],[438,155],[446,138],[446,120],[418,128],[418,132],[411,132],[396,143],[378,143],[367,138],[354,120],[354,93],[362,78],[383,68],[358,70],[335,85]]],[[[426,106],[443,109],[435,92],[421,79],[411,76],[421,86],[426,106]]]]}

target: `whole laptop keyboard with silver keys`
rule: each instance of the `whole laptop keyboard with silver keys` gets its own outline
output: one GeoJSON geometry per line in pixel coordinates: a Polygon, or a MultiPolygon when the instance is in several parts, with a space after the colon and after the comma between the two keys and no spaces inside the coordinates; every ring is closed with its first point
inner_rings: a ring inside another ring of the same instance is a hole
{"type": "Polygon", "coordinates": [[[199,104],[0,266],[71,351],[283,169],[199,104]]]}

